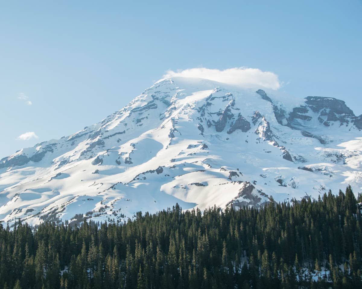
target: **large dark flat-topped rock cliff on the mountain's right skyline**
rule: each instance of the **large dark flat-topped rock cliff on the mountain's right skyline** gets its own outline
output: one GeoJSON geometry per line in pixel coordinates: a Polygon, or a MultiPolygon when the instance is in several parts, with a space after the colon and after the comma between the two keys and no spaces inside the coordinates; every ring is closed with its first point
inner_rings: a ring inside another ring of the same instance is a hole
{"type": "Polygon", "coordinates": [[[306,104],[313,106],[313,111],[318,112],[323,108],[330,108],[334,113],[354,116],[353,111],[343,100],[332,97],[307,96],[306,104]]]}

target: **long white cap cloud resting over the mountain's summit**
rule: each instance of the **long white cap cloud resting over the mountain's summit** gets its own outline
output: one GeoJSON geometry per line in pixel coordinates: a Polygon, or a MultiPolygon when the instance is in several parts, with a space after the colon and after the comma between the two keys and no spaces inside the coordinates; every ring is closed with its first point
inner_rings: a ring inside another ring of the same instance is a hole
{"type": "Polygon", "coordinates": [[[196,77],[212,81],[241,86],[244,88],[265,87],[277,90],[281,86],[277,74],[269,71],[262,71],[258,68],[236,67],[224,70],[209,68],[191,68],[185,70],[168,70],[163,78],[169,77],[196,77]]]}

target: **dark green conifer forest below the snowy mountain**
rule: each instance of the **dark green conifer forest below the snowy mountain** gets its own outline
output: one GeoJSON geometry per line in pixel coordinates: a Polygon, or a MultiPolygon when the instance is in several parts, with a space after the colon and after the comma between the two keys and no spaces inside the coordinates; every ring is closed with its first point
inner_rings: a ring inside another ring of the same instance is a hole
{"type": "Polygon", "coordinates": [[[125,224],[0,227],[0,288],[362,288],[362,216],[352,189],[262,208],[125,224]]]}

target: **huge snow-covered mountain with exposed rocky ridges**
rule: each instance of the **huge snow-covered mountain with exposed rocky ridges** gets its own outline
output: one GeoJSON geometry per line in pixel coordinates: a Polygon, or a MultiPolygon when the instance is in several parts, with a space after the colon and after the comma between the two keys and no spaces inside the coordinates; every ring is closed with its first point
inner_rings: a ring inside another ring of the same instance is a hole
{"type": "Polygon", "coordinates": [[[199,78],[156,82],[101,122],[0,160],[0,220],[125,220],[362,188],[362,116],[199,78]]]}

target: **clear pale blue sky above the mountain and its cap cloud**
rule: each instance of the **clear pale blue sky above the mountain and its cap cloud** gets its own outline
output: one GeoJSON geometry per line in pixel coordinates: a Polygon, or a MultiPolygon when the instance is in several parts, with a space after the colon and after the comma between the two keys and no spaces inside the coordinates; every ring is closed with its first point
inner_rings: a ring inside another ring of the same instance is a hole
{"type": "Polygon", "coordinates": [[[361,1],[50,2],[0,4],[0,158],[100,121],[169,69],[258,68],[362,113],[361,1]]]}

